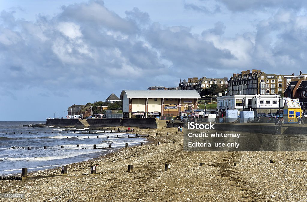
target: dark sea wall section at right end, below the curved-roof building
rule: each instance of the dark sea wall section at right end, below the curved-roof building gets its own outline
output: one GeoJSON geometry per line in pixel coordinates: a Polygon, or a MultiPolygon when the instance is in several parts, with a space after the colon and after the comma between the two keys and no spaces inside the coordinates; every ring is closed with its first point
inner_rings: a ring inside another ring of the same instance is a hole
{"type": "Polygon", "coordinates": [[[156,118],[124,118],[122,126],[138,126],[146,128],[158,128],[156,118]]]}

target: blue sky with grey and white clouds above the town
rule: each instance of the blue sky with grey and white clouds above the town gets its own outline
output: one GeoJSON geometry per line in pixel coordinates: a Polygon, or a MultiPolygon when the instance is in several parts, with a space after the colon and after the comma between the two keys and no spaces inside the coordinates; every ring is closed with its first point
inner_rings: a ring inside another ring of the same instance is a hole
{"type": "Polygon", "coordinates": [[[111,93],[247,69],[299,74],[303,0],[0,2],[0,121],[45,121],[111,93]]]}

